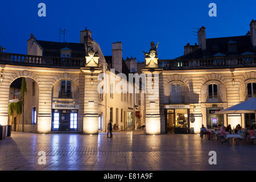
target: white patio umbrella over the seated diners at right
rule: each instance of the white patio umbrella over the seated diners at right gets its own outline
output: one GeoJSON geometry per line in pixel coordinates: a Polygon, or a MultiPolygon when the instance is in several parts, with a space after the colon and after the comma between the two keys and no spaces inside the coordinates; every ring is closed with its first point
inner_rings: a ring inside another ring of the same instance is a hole
{"type": "Polygon", "coordinates": [[[220,110],[216,114],[243,114],[243,113],[255,113],[255,116],[256,116],[256,97],[253,97],[250,100],[247,100],[240,104],[220,110]]]}

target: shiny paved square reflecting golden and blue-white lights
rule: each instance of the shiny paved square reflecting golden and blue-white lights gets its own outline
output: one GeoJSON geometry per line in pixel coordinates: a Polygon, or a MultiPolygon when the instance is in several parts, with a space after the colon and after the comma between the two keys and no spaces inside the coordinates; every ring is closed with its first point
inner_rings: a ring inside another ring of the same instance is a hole
{"type": "Polygon", "coordinates": [[[144,135],[142,131],[79,134],[12,133],[0,140],[0,170],[256,170],[256,146],[221,145],[199,135],[144,135]],[[38,164],[38,152],[46,164],[38,164]],[[209,151],[217,152],[210,165],[209,151]]]}

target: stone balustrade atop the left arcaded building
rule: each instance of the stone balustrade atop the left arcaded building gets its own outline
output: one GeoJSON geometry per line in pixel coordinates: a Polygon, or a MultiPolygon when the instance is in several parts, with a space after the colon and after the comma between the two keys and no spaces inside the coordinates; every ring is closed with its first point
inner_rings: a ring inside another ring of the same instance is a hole
{"type": "Polygon", "coordinates": [[[32,67],[81,68],[85,66],[85,59],[0,53],[0,64],[26,65],[32,67]]]}

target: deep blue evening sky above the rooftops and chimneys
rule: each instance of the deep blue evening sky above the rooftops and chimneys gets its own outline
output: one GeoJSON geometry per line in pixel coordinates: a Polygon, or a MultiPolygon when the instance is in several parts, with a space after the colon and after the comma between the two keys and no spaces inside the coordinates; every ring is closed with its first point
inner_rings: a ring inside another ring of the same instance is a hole
{"type": "Polygon", "coordinates": [[[195,44],[193,28],[206,27],[207,38],[245,35],[256,19],[255,0],[197,1],[1,1],[0,45],[5,52],[27,53],[27,40],[59,42],[59,28],[68,30],[65,40],[79,42],[88,27],[105,56],[112,43],[123,43],[123,58],[143,61],[150,42],[159,42],[160,59],[183,54],[185,44],[195,44]],[[46,18],[39,18],[38,4],[46,3],[46,18]],[[217,17],[208,16],[208,5],[217,4],[217,17]]]}

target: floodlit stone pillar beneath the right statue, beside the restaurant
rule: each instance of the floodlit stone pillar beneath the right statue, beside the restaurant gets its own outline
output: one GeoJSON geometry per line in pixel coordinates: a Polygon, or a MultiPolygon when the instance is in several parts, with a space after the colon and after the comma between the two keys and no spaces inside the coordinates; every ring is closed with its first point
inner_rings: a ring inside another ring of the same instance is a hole
{"type": "Polygon", "coordinates": [[[160,134],[160,107],[159,107],[159,73],[162,69],[143,69],[146,74],[146,134],[160,134]],[[152,85],[152,82],[154,85],[152,85]]]}

